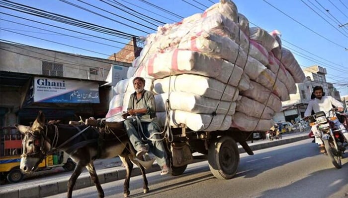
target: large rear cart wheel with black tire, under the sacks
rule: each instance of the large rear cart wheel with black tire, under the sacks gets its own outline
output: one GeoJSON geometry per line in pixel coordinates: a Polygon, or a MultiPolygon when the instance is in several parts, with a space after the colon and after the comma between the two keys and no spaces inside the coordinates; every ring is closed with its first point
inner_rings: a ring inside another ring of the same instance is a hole
{"type": "Polygon", "coordinates": [[[233,178],[239,165],[239,150],[233,138],[223,136],[211,142],[208,150],[208,163],[211,173],[216,178],[233,178]]]}

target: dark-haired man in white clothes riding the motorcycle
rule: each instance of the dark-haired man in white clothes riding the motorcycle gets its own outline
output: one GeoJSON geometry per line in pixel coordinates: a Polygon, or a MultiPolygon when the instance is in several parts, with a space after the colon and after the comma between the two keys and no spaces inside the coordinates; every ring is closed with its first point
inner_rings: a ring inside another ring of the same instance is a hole
{"type": "MultiPolygon", "coordinates": [[[[339,111],[344,110],[343,104],[340,101],[338,101],[337,99],[334,99],[331,96],[323,96],[323,93],[324,93],[323,87],[321,86],[314,87],[312,95],[314,95],[315,98],[309,101],[307,109],[304,113],[305,117],[311,115],[312,110],[314,111],[314,113],[317,113],[319,111],[324,111],[325,114],[328,115],[329,111],[333,108],[333,106],[336,106],[339,111]]],[[[345,126],[343,126],[343,124],[338,119],[334,120],[333,122],[335,123],[335,126],[338,129],[345,129],[345,126]]],[[[317,125],[312,126],[312,131],[314,135],[320,134],[318,131],[317,125]]],[[[345,129],[341,132],[344,135],[346,141],[348,142],[347,130],[345,129]]],[[[324,143],[318,136],[315,136],[315,142],[319,144],[320,153],[325,153],[324,143]]]]}

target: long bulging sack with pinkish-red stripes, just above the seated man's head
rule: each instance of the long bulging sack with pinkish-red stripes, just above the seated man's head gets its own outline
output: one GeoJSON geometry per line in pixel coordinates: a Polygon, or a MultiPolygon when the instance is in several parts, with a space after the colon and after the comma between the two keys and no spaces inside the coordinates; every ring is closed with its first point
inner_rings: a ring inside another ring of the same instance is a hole
{"type": "Polygon", "coordinates": [[[239,85],[243,73],[242,68],[226,60],[179,49],[155,54],[144,64],[147,73],[156,79],[189,73],[212,77],[235,87],[239,85]]]}

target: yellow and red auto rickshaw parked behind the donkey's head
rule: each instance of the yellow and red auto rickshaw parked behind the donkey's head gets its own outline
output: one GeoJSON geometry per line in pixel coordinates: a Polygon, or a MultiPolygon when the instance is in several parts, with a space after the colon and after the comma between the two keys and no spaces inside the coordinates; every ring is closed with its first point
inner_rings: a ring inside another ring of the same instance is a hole
{"type": "MultiPolygon", "coordinates": [[[[24,174],[19,169],[22,154],[22,135],[14,127],[0,127],[0,177],[9,183],[23,180],[24,174]]],[[[48,155],[39,165],[38,170],[49,170],[63,167],[67,171],[74,170],[75,162],[63,151],[48,155]]]]}

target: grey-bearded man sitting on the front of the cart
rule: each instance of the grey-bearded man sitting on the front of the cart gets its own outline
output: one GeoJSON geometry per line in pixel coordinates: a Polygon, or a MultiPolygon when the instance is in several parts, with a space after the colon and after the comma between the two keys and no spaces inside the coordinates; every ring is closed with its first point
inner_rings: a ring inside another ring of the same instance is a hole
{"type": "Polygon", "coordinates": [[[133,79],[135,92],[130,96],[127,112],[122,114],[124,126],[130,142],[137,150],[136,157],[142,160],[142,156],[150,151],[155,155],[158,165],[161,167],[161,175],[169,173],[167,153],[160,136],[160,126],[157,122],[155,97],[144,90],[145,79],[136,77],[133,79]],[[127,116],[131,116],[127,118],[127,116]],[[145,144],[148,143],[149,147],[145,144]]]}

